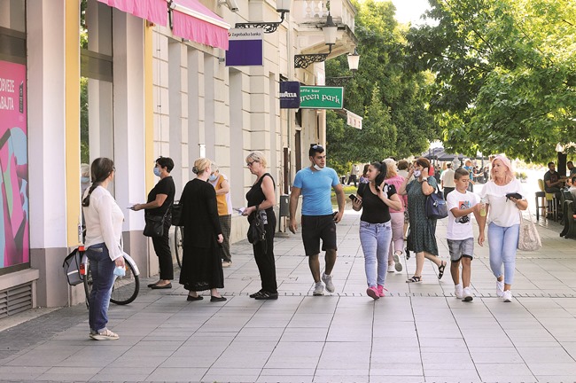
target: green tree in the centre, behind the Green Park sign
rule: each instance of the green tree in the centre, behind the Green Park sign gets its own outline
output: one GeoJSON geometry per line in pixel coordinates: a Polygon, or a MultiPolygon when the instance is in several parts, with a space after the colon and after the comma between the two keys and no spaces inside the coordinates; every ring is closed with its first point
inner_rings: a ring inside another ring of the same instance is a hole
{"type": "MultiPolygon", "coordinates": [[[[440,126],[426,103],[432,76],[406,70],[412,56],[406,52],[406,29],[394,20],[393,4],[368,0],[354,5],[361,59],[345,86],[344,106],[364,117],[363,128],[346,126],[333,112],[328,113],[326,127],[331,167],[343,172],[352,162],[417,155],[428,148],[429,140],[440,138],[440,126]]],[[[326,61],[326,75],[350,75],[346,56],[326,61]]]]}

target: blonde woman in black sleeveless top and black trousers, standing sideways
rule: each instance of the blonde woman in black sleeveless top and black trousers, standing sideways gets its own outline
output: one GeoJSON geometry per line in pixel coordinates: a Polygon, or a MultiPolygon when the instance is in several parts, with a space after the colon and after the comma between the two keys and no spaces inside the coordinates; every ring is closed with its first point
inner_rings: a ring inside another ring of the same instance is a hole
{"type": "Polygon", "coordinates": [[[262,152],[251,152],[246,157],[246,166],[250,172],[257,176],[256,182],[246,193],[248,207],[242,215],[248,216],[248,222],[252,223],[258,210],[266,212],[264,227],[266,229],[266,241],[253,244],[254,259],[260,271],[262,288],[258,293],[253,293],[250,298],[257,300],[278,299],[278,289],[276,285],[276,261],[274,259],[274,232],[276,231],[276,215],[274,205],[276,204],[276,194],[274,192],[276,184],[274,179],[266,172],[266,158],[262,152]]]}

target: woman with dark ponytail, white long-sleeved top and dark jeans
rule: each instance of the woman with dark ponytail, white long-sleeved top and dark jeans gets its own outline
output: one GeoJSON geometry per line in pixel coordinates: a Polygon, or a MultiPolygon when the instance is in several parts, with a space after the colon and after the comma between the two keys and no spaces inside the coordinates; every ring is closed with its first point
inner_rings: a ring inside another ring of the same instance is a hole
{"type": "Polygon", "coordinates": [[[121,248],[124,215],[106,189],[114,177],[113,160],[98,158],[90,168],[92,185],[84,192],[82,210],[86,220],[86,255],[90,259],[92,292],[89,302],[90,338],[117,340],[118,334],[106,328],[108,305],[114,283],[114,269],[124,267],[121,248]]]}

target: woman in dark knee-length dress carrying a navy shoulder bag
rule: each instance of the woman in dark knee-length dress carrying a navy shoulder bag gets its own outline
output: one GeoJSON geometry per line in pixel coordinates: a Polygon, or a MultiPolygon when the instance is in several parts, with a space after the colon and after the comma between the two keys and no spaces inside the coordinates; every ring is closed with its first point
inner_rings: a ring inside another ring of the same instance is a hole
{"type": "Polygon", "coordinates": [[[408,214],[410,217],[410,237],[416,253],[416,271],[413,277],[406,282],[422,282],[422,269],[424,258],[429,259],[438,266],[438,278],[444,275],[447,262],[440,261],[438,245],[436,244],[436,220],[426,216],[426,198],[436,191],[436,179],[428,176],[430,161],[420,157],[414,162],[409,176],[402,182],[399,194],[408,194],[408,214]],[[408,179],[414,176],[415,180],[408,184],[408,179]]]}

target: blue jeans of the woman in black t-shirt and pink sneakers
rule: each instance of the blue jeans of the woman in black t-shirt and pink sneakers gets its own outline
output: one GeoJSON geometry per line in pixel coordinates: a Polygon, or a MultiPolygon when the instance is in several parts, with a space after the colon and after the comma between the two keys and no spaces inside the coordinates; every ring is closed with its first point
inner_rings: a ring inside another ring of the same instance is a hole
{"type": "Polygon", "coordinates": [[[376,286],[377,283],[384,285],[391,240],[392,225],[390,221],[387,223],[360,221],[360,242],[364,252],[364,270],[369,287],[376,286]]]}

